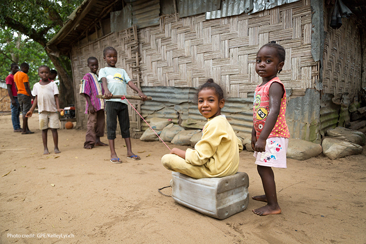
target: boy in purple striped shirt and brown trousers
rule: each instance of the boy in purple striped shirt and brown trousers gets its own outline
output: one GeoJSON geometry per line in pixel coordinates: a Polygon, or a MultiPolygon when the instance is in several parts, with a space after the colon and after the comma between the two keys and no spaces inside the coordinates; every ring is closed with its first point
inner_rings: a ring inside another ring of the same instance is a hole
{"type": "Polygon", "coordinates": [[[104,99],[99,99],[97,95],[103,95],[103,88],[98,82],[98,59],[96,57],[89,57],[87,64],[90,73],[84,75],[81,80],[80,95],[85,97],[85,113],[88,115],[87,128],[85,135],[84,148],[92,149],[94,146],[108,146],[100,141],[104,136],[104,99]]]}

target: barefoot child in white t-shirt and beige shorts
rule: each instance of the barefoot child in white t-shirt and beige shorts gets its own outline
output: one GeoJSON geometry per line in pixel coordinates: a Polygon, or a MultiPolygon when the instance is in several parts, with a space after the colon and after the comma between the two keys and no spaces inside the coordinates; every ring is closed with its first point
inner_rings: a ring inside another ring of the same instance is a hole
{"type": "Polygon", "coordinates": [[[58,112],[61,112],[64,109],[59,108],[58,88],[56,83],[51,82],[48,79],[49,74],[50,69],[48,66],[42,65],[38,68],[38,75],[41,77],[41,81],[33,86],[33,94],[36,97],[33,101],[32,108],[26,113],[26,117],[32,117],[33,111],[38,105],[40,130],[42,130],[42,141],[44,146],[43,154],[49,154],[47,147],[48,128],[51,128],[52,131],[54,152],[55,154],[59,154],[57,134],[57,129],[59,128],[58,112]]]}

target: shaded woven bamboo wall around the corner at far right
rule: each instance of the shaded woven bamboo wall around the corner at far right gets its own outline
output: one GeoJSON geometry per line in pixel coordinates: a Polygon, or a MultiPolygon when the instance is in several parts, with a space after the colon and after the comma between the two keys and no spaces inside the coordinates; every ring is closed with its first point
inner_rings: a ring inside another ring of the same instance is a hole
{"type": "Polygon", "coordinates": [[[353,101],[361,89],[361,37],[357,19],[342,18],[342,26],[333,29],[329,25],[329,13],[324,11],[324,30],[327,36],[324,43],[323,93],[341,99],[348,93],[353,101]]]}

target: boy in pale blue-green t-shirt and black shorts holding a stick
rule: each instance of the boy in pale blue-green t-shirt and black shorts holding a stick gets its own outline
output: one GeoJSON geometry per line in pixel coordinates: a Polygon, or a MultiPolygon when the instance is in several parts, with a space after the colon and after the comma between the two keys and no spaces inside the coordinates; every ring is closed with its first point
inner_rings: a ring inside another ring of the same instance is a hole
{"type": "Polygon", "coordinates": [[[115,67],[117,63],[117,51],[113,47],[106,47],[103,50],[103,59],[107,63],[107,67],[99,71],[99,79],[102,80],[104,88],[104,97],[106,101],[106,115],[107,115],[107,136],[109,141],[109,148],[111,151],[110,161],[114,164],[120,164],[122,161],[118,158],[115,148],[114,139],[116,138],[117,117],[119,121],[119,127],[122,138],[125,138],[127,147],[127,158],[133,160],[140,160],[141,158],[134,153],[131,149],[130,138],[130,120],[128,114],[128,102],[122,99],[111,99],[112,95],[126,95],[128,84],[134,89],[142,100],[146,100],[139,88],[131,81],[127,72],[124,69],[115,67]]]}

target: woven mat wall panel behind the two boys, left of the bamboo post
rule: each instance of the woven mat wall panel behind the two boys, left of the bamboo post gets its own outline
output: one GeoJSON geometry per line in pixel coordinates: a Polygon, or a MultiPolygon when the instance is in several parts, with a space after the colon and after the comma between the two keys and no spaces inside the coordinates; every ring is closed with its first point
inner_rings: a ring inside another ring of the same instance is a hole
{"type": "MultiPolygon", "coordinates": [[[[111,46],[118,52],[117,68],[123,68],[128,73],[130,79],[135,82],[137,87],[140,88],[140,71],[139,71],[139,54],[138,54],[138,42],[137,31],[135,27],[125,29],[118,33],[111,33],[101,39],[90,42],[86,45],[73,46],[71,53],[74,88],[76,92],[76,117],[78,121],[78,127],[86,128],[87,116],[85,111],[85,99],[81,97],[79,93],[80,80],[84,74],[89,73],[90,69],[87,67],[87,59],[90,56],[95,56],[99,60],[99,69],[107,66],[103,59],[104,48],[111,46]]],[[[136,92],[127,86],[128,95],[136,95],[136,92]]],[[[140,111],[140,102],[137,100],[129,100],[130,103],[140,111]]],[[[132,137],[135,132],[139,132],[140,117],[131,106],[129,106],[130,115],[130,128],[132,131],[132,137]]],[[[117,127],[119,132],[119,127],[117,127]]],[[[120,133],[120,132],[119,132],[120,133]]]]}

